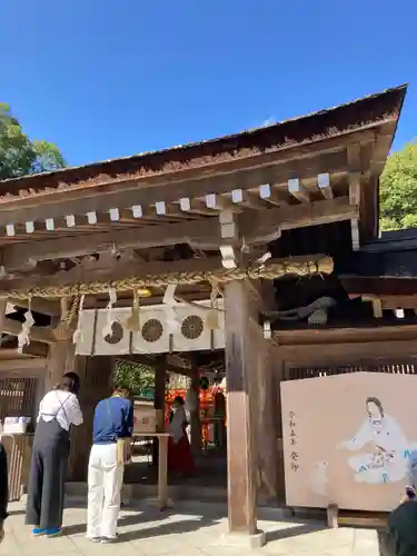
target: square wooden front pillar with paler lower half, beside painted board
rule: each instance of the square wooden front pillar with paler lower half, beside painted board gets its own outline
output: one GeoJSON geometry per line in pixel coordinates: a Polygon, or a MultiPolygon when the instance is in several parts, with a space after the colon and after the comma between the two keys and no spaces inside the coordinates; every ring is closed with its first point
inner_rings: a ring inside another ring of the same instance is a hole
{"type": "MultiPolygon", "coordinates": [[[[256,385],[252,373],[256,335],[260,328],[251,309],[251,285],[232,281],[225,287],[229,533],[257,532],[256,385]]],[[[260,542],[260,544],[262,544],[260,542]]]]}

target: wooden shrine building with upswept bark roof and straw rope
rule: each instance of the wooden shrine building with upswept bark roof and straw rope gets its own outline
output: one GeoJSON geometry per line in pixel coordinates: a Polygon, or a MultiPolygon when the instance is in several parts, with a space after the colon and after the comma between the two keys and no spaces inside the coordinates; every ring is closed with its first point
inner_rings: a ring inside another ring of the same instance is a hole
{"type": "Polygon", "coordinates": [[[44,361],[44,389],[69,369],[82,378],[73,477],[86,477],[115,354],[162,368],[165,354],[181,354],[192,377],[216,359],[227,376],[229,529],[250,538],[259,488],[277,498],[284,480],[280,380],[413,364],[417,269],[395,252],[411,240],[378,239],[378,182],[405,93],[0,182],[0,329],[16,346],[24,328],[20,350],[44,361]],[[169,329],[176,302],[205,307],[187,341],[169,329]],[[117,318],[101,335],[106,310],[130,316],[119,338],[117,318]],[[93,317],[75,344],[83,314],[93,317]]]}

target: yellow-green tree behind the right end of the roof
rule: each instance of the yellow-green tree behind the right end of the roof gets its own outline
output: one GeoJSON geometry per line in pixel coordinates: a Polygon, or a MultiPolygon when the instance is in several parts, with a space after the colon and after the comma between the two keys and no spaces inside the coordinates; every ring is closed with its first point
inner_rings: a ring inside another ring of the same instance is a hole
{"type": "Polygon", "coordinates": [[[380,179],[380,228],[417,227],[417,142],[393,152],[380,179]]]}

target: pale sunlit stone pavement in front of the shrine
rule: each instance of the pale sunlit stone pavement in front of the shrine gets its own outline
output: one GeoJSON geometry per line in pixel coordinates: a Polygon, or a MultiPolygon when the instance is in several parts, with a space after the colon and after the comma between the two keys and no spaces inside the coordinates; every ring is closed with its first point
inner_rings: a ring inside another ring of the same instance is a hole
{"type": "Polygon", "coordinates": [[[123,509],[120,539],[113,545],[96,545],[85,538],[86,509],[69,507],[64,514],[66,535],[60,538],[31,538],[24,524],[22,504],[11,504],[6,539],[0,556],[378,556],[377,534],[369,529],[327,529],[320,522],[284,519],[275,509],[260,509],[259,527],[268,544],[250,552],[221,546],[226,532],[225,506],[182,502],[159,512],[149,503],[123,509]],[[279,519],[279,520],[277,520],[279,519]]]}

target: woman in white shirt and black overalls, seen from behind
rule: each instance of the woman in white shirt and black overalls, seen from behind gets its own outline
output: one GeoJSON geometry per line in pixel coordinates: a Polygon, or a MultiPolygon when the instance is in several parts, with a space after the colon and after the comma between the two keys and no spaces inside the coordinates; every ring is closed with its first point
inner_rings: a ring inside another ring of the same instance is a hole
{"type": "Polygon", "coordinates": [[[70,451],[70,428],[82,424],[77,394],[80,378],[67,373],[39,406],[28,486],[26,524],[32,535],[62,534],[64,484],[70,451]]]}

